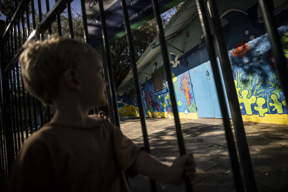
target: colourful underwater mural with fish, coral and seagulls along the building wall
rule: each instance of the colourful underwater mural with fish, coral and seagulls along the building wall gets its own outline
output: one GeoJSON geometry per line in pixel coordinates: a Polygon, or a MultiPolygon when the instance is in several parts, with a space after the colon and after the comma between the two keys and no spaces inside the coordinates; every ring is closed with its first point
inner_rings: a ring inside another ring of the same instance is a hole
{"type": "MultiPolygon", "coordinates": [[[[271,3],[273,2],[271,1],[271,3]]],[[[287,3],[283,4],[286,6],[287,3]]],[[[288,64],[288,20],[286,19],[288,9],[283,4],[277,4],[278,11],[275,18],[283,54],[288,64]],[[281,8],[281,6],[284,6],[284,8],[279,11],[279,7],[281,8]]],[[[283,95],[282,85],[277,76],[275,60],[270,50],[271,44],[265,31],[261,14],[259,13],[258,3],[247,10],[241,10],[237,7],[224,10],[220,14],[220,19],[226,20],[223,32],[243,121],[287,125],[287,100],[283,95]]],[[[199,110],[197,109],[197,102],[198,106],[201,106],[199,102],[206,102],[203,99],[194,98],[194,95],[195,97],[199,95],[198,92],[193,93],[196,90],[196,88],[193,88],[194,83],[199,84],[197,86],[202,88],[201,81],[193,79],[194,72],[196,72],[193,69],[197,67],[197,69],[200,69],[197,72],[204,73],[208,81],[208,91],[203,94],[209,95],[210,93],[212,103],[218,100],[217,92],[213,88],[215,85],[211,83],[211,79],[214,79],[214,77],[212,75],[209,76],[209,73],[213,73],[210,69],[211,62],[207,56],[208,54],[204,51],[205,39],[200,38],[199,42],[199,45],[182,55],[179,52],[169,50],[169,46],[167,47],[173,88],[180,118],[197,119],[199,115],[197,113],[199,110]],[[194,59],[193,61],[198,62],[198,64],[189,68],[191,64],[188,65],[187,57],[193,54],[194,57],[199,55],[197,56],[199,57],[199,61],[194,59]],[[201,68],[200,66],[203,67],[201,68]]],[[[217,62],[220,65],[218,57],[217,62]]],[[[152,67],[152,65],[149,66],[152,67]]],[[[152,67],[152,70],[157,70],[157,67],[152,67]]],[[[174,117],[168,85],[167,88],[155,93],[152,77],[146,75],[145,82],[141,86],[143,87],[143,104],[146,106],[146,113],[149,117],[174,117]]],[[[130,96],[126,91],[119,93],[117,99],[119,114],[121,116],[129,114],[139,116],[136,102],[131,102],[130,96]]],[[[219,104],[215,104],[214,102],[213,108],[215,117],[218,118],[216,113],[220,113],[219,104]],[[219,109],[215,109],[215,106],[218,106],[219,109]],[[218,112],[216,112],[217,110],[218,112]]]]}

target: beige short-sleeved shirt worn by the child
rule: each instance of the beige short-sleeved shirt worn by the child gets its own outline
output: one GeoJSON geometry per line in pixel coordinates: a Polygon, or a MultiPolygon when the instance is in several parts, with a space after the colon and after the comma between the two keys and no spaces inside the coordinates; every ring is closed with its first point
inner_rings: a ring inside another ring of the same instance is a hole
{"type": "Polygon", "coordinates": [[[121,191],[117,163],[127,171],[140,147],[104,121],[91,128],[45,125],[23,145],[8,191],[121,191]]]}

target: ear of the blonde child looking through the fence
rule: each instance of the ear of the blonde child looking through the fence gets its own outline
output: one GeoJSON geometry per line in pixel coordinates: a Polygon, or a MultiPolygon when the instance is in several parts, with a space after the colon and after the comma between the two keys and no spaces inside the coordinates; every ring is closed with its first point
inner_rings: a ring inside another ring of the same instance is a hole
{"type": "Polygon", "coordinates": [[[79,74],[75,69],[69,68],[64,71],[64,82],[71,89],[81,90],[79,74]]]}

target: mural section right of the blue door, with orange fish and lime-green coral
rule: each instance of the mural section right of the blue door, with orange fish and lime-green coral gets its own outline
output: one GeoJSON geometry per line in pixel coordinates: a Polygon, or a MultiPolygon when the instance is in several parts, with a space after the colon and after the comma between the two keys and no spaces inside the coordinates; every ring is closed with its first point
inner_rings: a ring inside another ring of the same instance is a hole
{"type": "MultiPolygon", "coordinates": [[[[286,98],[276,74],[268,35],[263,23],[257,22],[257,6],[238,13],[241,20],[246,22],[246,30],[242,28],[242,31],[236,32],[237,28],[231,27],[230,34],[234,35],[230,35],[227,41],[241,114],[247,121],[287,124],[286,98]],[[235,47],[231,47],[233,43],[235,47]]],[[[278,23],[278,32],[288,63],[288,23],[283,19],[285,14],[287,11],[282,11],[276,19],[284,20],[278,23]]],[[[226,19],[229,20],[229,14],[226,19]]]]}

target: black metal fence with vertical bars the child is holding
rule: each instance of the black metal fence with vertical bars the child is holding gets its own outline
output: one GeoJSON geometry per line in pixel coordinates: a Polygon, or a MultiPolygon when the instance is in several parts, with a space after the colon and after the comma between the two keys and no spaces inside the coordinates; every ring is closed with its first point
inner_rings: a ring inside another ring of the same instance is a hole
{"type": "MultiPolygon", "coordinates": [[[[32,97],[25,89],[23,81],[21,81],[21,70],[19,68],[18,57],[22,52],[21,46],[25,41],[30,40],[43,40],[45,32],[52,33],[51,24],[57,22],[58,35],[62,35],[60,13],[67,8],[67,15],[69,21],[70,38],[73,38],[73,26],[71,19],[71,7],[70,2],[72,0],[55,0],[55,4],[52,9],[49,10],[49,1],[46,0],[47,14],[42,18],[41,0],[38,0],[38,14],[40,23],[36,26],[35,22],[35,7],[34,1],[31,0],[15,0],[15,8],[11,10],[11,16],[6,20],[6,29],[1,35],[0,44],[0,56],[1,56],[1,116],[0,116],[0,147],[1,147],[1,189],[4,190],[5,182],[7,180],[8,172],[14,159],[17,158],[18,152],[22,147],[25,140],[33,134],[33,132],[40,129],[45,122],[50,121],[53,116],[54,109],[51,106],[46,106],[32,97]],[[31,7],[29,7],[29,4],[31,7]],[[32,26],[29,22],[29,8],[32,8],[32,26]],[[25,20],[26,16],[26,20],[25,20]],[[25,24],[26,23],[26,24],[25,24]],[[20,25],[21,24],[21,25],[20,25]],[[26,25],[26,27],[25,27],[26,25]],[[22,27],[22,30],[20,29],[22,27]],[[40,114],[40,119],[37,118],[37,111],[40,114]],[[40,121],[39,121],[40,120],[40,121]]],[[[192,0],[191,0],[192,1],[192,0]]],[[[272,52],[275,57],[275,61],[278,68],[280,80],[283,85],[283,92],[287,96],[287,67],[285,64],[285,58],[282,54],[280,39],[278,37],[275,22],[273,22],[273,13],[267,2],[267,0],[259,0],[261,9],[264,15],[265,26],[268,31],[269,38],[271,40],[272,52]]],[[[104,41],[104,49],[101,51],[103,60],[104,78],[109,82],[109,88],[107,88],[107,98],[110,112],[110,119],[115,125],[119,126],[119,115],[116,102],[116,90],[112,73],[112,65],[110,61],[107,30],[104,17],[104,9],[102,0],[98,0],[102,34],[104,41]]],[[[170,97],[172,101],[173,113],[178,114],[176,98],[174,94],[173,83],[171,79],[171,72],[169,67],[169,60],[167,55],[167,48],[165,44],[164,32],[162,29],[161,16],[158,7],[158,1],[152,0],[153,10],[157,21],[157,27],[159,32],[159,39],[161,43],[161,52],[164,60],[164,67],[168,86],[170,88],[170,97]]],[[[207,8],[204,6],[202,0],[196,0],[198,7],[199,17],[202,24],[204,37],[206,39],[208,53],[211,60],[211,65],[214,73],[214,79],[217,87],[218,98],[224,98],[222,89],[222,83],[220,80],[220,74],[216,63],[216,56],[214,46],[211,40],[211,32],[209,29],[209,20],[216,40],[217,52],[220,58],[221,68],[223,71],[224,83],[228,95],[229,107],[232,114],[233,127],[235,130],[235,137],[238,146],[238,152],[240,157],[240,166],[238,164],[235,145],[233,142],[233,135],[231,125],[229,123],[228,111],[225,100],[219,100],[221,106],[221,112],[223,116],[223,123],[225,126],[226,138],[229,147],[229,154],[232,163],[232,169],[235,179],[235,188],[237,191],[257,191],[256,182],[253,174],[253,168],[251,164],[250,154],[248,150],[247,140],[245,136],[242,117],[239,109],[238,99],[235,91],[235,85],[233,83],[232,70],[227,55],[226,44],[223,37],[222,27],[220,24],[219,13],[215,0],[207,1],[207,8]],[[209,14],[207,13],[207,9],[209,14]],[[240,169],[241,167],[241,169],[240,169]],[[243,177],[242,177],[243,176],[243,177]]],[[[128,12],[125,0],[122,0],[123,14],[125,18],[125,29],[127,35],[127,41],[130,52],[130,62],[134,75],[134,86],[137,98],[141,98],[139,78],[137,73],[136,61],[134,56],[134,50],[132,46],[131,30],[128,20],[128,12]]],[[[85,13],[85,2],[81,0],[82,17],[84,24],[85,41],[89,43],[88,29],[85,13]]],[[[0,26],[3,26],[2,22],[0,26]]],[[[150,152],[148,136],[146,131],[145,116],[143,112],[142,102],[137,102],[140,112],[141,125],[143,130],[143,139],[145,150],[150,152]]],[[[98,113],[98,108],[89,111],[89,114],[98,113]]],[[[185,154],[185,146],[182,138],[182,131],[180,127],[179,116],[175,115],[175,124],[177,130],[177,137],[179,143],[179,151],[181,155],[185,154]]],[[[186,178],[186,189],[192,191],[191,183],[186,178]]],[[[156,191],[155,181],[151,180],[152,191],[156,191]]]]}

